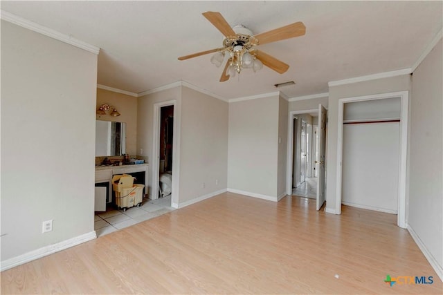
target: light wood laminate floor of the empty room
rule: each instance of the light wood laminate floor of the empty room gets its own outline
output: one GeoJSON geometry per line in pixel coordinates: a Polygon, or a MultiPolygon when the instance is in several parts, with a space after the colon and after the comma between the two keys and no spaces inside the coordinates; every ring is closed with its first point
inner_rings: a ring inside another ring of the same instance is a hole
{"type": "Polygon", "coordinates": [[[1,294],[442,294],[395,222],[223,193],[2,272],[1,294]],[[390,287],[387,274],[434,283],[390,287]]]}

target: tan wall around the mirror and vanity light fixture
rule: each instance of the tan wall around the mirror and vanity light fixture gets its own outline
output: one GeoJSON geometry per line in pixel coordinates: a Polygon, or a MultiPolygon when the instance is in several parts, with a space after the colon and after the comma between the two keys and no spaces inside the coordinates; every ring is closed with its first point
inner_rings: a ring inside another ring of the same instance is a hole
{"type": "Polygon", "coordinates": [[[137,97],[97,88],[96,110],[101,104],[114,106],[120,116],[97,115],[97,120],[126,123],[126,153],[137,155],[137,97]]]}

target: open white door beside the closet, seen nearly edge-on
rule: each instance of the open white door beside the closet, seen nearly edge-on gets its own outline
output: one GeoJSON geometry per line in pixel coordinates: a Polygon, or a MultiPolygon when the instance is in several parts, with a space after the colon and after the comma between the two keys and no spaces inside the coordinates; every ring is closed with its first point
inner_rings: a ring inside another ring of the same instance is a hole
{"type": "Polygon", "coordinates": [[[326,109],[318,105],[318,180],[317,210],[325,202],[326,109]]]}

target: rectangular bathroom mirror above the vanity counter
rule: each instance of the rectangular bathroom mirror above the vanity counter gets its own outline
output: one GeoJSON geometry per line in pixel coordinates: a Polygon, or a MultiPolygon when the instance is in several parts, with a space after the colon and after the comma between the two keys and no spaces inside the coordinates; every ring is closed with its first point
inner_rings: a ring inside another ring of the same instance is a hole
{"type": "Polygon", "coordinates": [[[126,123],[96,120],[96,157],[126,153],[126,123]]]}

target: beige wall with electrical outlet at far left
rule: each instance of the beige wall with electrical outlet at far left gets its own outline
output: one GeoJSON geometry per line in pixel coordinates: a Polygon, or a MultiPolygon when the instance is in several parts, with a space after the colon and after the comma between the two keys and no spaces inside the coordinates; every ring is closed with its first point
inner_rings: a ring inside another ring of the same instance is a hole
{"type": "Polygon", "coordinates": [[[97,55],[1,21],[2,267],[95,236],[96,81],[97,55]]]}

